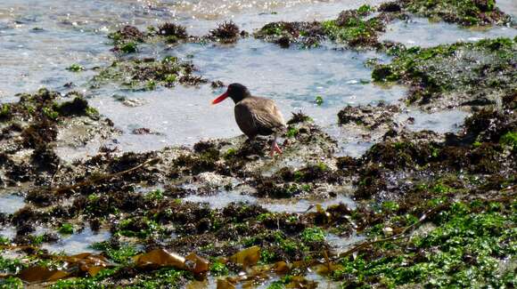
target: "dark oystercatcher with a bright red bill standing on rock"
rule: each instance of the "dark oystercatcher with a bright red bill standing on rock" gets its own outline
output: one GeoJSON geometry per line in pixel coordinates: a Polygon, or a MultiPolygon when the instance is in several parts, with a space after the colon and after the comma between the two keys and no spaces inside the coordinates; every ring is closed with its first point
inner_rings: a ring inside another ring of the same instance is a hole
{"type": "Polygon", "coordinates": [[[287,126],[283,120],[282,112],[276,107],[275,101],[252,96],[248,88],[242,84],[230,84],[225,93],[212,100],[212,104],[217,104],[228,97],[234,100],[235,121],[241,131],[250,140],[253,140],[257,135],[273,134],[269,155],[273,157],[275,151],[282,154],[282,149],[278,147],[276,139],[279,134],[285,131],[287,126]]]}

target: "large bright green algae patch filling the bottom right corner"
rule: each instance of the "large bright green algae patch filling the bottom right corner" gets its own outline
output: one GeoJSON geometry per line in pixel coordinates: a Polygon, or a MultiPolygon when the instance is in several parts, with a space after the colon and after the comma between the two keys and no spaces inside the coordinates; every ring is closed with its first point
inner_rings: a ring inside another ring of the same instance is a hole
{"type": "Polygon", "coordinates": [[[429,287],[512,286],[514,272],[501,271],[501,256],[514,255],[515,204],[453,203],[432,220],[436,226],[409,242],[377,245],[341,261],[334,272],[344,286],[421,284],[429,287]],[[483,211],[486,210],[486,211],[483,211]],[[513,243],[512,243],[513,242],[513,243]]]}

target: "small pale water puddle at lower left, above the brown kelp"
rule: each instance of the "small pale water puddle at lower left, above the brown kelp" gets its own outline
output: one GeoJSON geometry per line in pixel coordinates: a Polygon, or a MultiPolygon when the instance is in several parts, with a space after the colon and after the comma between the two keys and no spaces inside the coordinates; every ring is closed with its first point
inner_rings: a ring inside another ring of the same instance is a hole
{"type": "Polygon", "coordinates": [[[85,228],[77,234],[69,236],[61,235],[61,239],[53,244],[44,244],[41,247],[50,253],[65,253],[73,255],[78,253],[98,253],[91,245],[103,242],[111,237],[111,233],[106,230],[93,232],[92,229],[85,228]]]}

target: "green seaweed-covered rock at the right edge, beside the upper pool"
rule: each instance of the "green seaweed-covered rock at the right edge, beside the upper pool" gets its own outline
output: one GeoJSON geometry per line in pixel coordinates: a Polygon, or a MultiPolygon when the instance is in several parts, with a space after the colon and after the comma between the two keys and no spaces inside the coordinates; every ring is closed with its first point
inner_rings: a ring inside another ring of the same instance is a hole
{"type": "Polygon", "coordinates": [[[516,50],[508,38],[400,49],[372,77],[410,84],[409,101],[424,108],[496,105],[515,90],[516,50]]]}

